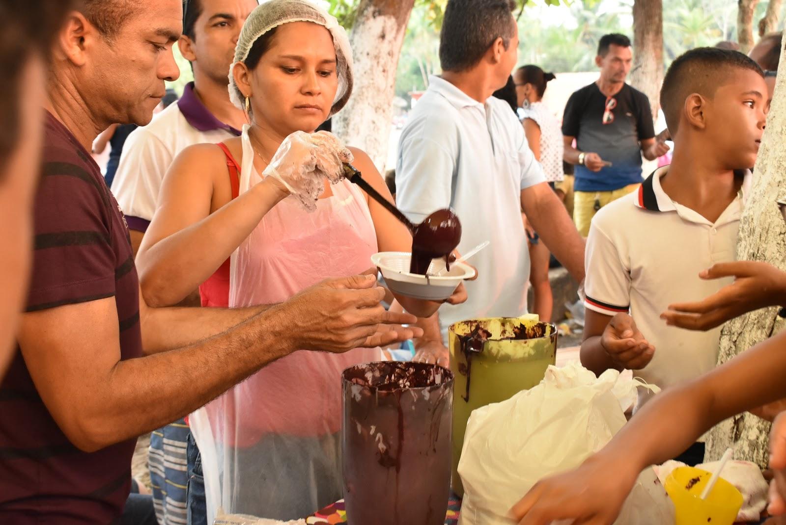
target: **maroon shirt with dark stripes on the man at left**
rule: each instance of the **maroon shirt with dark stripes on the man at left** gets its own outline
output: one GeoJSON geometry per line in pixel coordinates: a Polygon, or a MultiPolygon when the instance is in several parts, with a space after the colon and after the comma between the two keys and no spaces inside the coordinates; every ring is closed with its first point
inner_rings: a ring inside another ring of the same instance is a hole
{"type": "MultiPolygon", "coordinates": [[[[46,115],[28,312],[115,297],[121,359],[141,355],[138,279],[123,213],[90,154],[46,115]]],[[[39,397],[17,346],[0,383],[0,523],[112,523],[134,440],[87,454],[39,397]]]]}

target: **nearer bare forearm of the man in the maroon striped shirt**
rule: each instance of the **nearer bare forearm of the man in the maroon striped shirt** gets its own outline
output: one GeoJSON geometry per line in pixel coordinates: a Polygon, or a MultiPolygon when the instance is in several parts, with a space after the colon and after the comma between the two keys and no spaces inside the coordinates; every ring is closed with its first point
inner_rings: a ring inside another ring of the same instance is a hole
{"type": "Polygon", "coordinates": [[[279,307],[241,326],[171,352],[117,363],[101,403],[86,414],[96,450],[176,421],[289,352],[279,307]],[[263,320],[264,318],[264,320],[263,320]],[[142,401],[144,400],[144,401],[142,401]]]}

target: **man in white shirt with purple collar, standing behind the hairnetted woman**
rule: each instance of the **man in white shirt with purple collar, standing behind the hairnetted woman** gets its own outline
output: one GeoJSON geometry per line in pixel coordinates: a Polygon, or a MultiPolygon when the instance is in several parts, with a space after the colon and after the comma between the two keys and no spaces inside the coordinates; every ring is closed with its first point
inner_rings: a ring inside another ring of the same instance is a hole
{"type": "Polygon", "coordinates": [[[194,81],[185,86],[178,104],[131,133],[112,182],[112,193],[126,214],[134,255],[174,158],[192,144],[236,137],[248,122],[230,102],[227,86],[237,37],[256,5],[256,0],[184,2],[178,48],[191,62],[194,81]]]}

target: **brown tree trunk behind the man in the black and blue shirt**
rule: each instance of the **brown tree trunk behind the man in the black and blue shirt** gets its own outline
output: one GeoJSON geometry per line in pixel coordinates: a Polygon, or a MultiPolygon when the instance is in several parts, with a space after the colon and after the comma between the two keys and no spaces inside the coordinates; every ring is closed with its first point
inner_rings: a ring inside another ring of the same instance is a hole
{"type": "Polygon", "coordinates": [[[630,84],[647,95],[652,118],[657,118],[663,83],[663,0],[635,0],[634,53],[630,84]]]}

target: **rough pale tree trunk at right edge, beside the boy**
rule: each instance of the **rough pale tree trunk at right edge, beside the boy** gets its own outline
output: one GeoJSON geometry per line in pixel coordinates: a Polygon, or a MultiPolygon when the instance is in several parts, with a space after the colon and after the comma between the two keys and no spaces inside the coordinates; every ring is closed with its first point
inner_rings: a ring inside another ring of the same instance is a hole
{"type": "MultiPolygon", "coordinates": [[[[786,270],[786,224],[775,201],[786,196],[786,60],[780,60],[773,104],[758,151],[753,188],[747,195],[740,221],[736,257],[740,261],[767,261],[786,270]]],[[[765,308],[732,319],[723,326],[718,364],[772,337],[784,327],[777,308],[765,308]]],[[[744,413],[715,427],[707,440],[706,461],[719,459],[728,447],[734,457],[767,464],[769,423],[744,413]]]]}

